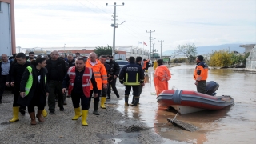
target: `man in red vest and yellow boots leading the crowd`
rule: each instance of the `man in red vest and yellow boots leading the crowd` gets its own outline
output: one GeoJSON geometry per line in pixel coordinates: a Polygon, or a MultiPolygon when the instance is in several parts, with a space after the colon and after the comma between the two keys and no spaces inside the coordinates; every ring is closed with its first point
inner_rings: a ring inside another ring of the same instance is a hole
{"type": "Polygon", "coordinates": [[[75,66],[69,68],[63,80],[62,93],[66,93],[66,87],[68,86],[68,93],[71,95],[74,106],[74,117],[72,120],[78,120],[82,116],[82,126],[88,126],[86,119],[90,108],[90,82],[94,86],[94,98],[97,98],[98,89],[93,70],[90,67],[85,67],[84,58],[75,58],[75,66]],[[79,105],[80,99],[82,111],[79,105]]]}

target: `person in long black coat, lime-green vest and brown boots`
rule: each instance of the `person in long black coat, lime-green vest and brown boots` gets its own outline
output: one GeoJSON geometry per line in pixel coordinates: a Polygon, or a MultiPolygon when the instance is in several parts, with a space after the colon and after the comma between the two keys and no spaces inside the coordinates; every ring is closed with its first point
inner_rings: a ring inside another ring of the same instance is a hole
{"type": "Polygon", "coordinates": [[[20,96],[18,104],[28,106],[28,112],[31,118],[31,125],[37,122],[44,122],[42,111],[46,106],[46,97],[49,94],[47,84],[46,58],[36,58],[31,62],[31,66],[27,66],[24,70],[20,86],[20,96]],[[38,106],[38,114],[34,114],[34,106],[38,106]]]}

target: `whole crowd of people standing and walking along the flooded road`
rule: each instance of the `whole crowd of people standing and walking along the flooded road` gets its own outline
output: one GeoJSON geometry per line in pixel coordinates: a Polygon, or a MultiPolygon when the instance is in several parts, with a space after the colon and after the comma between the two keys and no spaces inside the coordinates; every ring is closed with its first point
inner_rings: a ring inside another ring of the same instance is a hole
{"type": "MultiPolygon", "coordinates": [[[[195,85],[198,92],[205,93],[208,66],[202,62],[203,57],[197,57],[197,67],[194,70],[195,85]]],[[[50,58],[34,58],[34,54],[16,54],[13,62],[8,60],[6,54],[2,54],[0,62],[0,103],[5,86],[13,87],[13,118],[9,122],[19,120],[19,112],[25,114],[26,107],[31,118],[31,125],[44,122],[47,116],[45,110],[48,99],[49,114],[55,114],[55,98],[58,96],[58,107],[64,111],[66,93],[71,97],[74,107],[74,117],[78,120],[82,116],[82,126],[88,126],[86,118],[90,108],[91,98],[94,98],[93,114],[99,115],[98,106],[106,109],[106,99],[110,99],[111,88],[119,98],[116,81],[125,85],[125,106],[129,106],[129,95],[133,89],[131,106],[138,106],[142,87],[145,85],[145,68],[142,66],[142,57],[130,57],[129,64],[120,70],[113,56],[102,55],[98,58],[94,52],[89,58],[80,57],[74,59],[69,54],[66,62],[59,58],[57,50],[50,54],[50,58]],[[101,96],[101,98],[100,98],[101,96]],[[80,107],[81,103],[81,107],[80,107]],[[38,107],[35,114],[34,106],[38,107]]],[[[170,70],[163,65],[163,60],[157,60],[157,68],[154,72],[154,86],[157,95],[163,90],[168,90],[168,81],[171,78],[170,70]]]]}

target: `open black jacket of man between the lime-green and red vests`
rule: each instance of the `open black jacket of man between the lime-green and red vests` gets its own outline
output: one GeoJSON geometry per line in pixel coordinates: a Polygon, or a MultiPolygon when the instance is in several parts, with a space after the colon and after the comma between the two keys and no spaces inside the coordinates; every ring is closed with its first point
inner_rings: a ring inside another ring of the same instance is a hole
{"type": "MultiPolygon", "coordinates": [[[[48,74],[47,74],[47,77],[50,79],[50,73],[51,73],[51,66],[52,66],[52,60],[51,58],[47,60],[47,63],[46,63],[46,69],[48,70],[48,74]]],[[[66,75],[66,71],[67,71],[67,68],[66,68],[66,63],[64,60],[58,58],[57,59],[57,70],[58,70],[58,81],[59,82],[62,82],[63,81],[63,78],[65,77],[66,75]]]]}

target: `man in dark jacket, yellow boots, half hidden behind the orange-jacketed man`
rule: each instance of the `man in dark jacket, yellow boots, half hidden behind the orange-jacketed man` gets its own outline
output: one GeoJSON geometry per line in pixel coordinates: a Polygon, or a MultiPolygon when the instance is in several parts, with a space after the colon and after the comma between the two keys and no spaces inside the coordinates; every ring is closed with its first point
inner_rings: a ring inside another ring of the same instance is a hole
{"type": "MultiPolygon", "coordinates": [[[[105,69],[106,69],[106,73],[107,75],[109,75],[110,73],[110,65],[106,63],[106,56],[105,55],[102,55],[99,57],[99,60],[102,62],[102,64],[105,66],[105,69]]],[[[109,78],[108,78],[109,79],[109,78]]],[[[109,85],[109,80],[108,80],[108,85],[109,85]]],[[[106,89],[102,88],[102,95],[101,95],[101,108],[102,109],[106,109],[106,106],[105,106],[105,102],[106,102],[106,94],[107,94],[107,90],[108,90],[108,87],[106,89]]]]}

